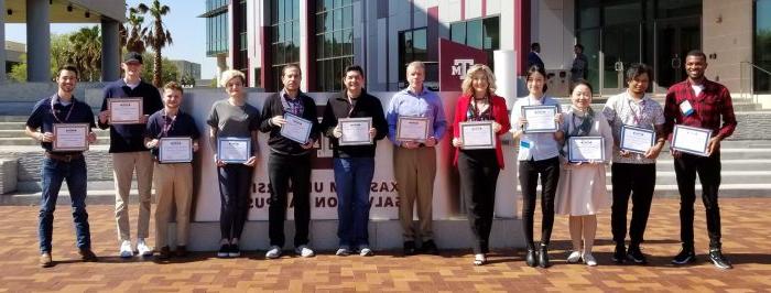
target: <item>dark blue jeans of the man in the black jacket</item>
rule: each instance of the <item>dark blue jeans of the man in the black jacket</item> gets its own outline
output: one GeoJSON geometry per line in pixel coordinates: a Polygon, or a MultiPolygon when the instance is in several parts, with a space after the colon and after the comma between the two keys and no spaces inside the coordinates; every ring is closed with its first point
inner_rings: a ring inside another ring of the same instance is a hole
{"type": "Polygon", "coordinates": [[[369,186],[373,158],[335,158],[337,237],[340,246],[369,246],[369,186]]]}

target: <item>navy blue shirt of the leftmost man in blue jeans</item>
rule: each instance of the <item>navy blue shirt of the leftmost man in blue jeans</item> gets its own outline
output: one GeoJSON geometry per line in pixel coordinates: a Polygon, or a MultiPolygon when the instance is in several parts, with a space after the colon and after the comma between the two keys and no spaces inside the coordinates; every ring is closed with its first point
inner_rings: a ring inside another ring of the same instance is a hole
{"type": "MultiPolygon", "coordinates": [[[[69,105],[64,106],[59,101],[57,95],[53,95],[42,99],[35,104],[32,109],[32,115],[26,119],[26,126],[32,129],[41,129],[41,132],[54,132],[54,123],[88,123],[90,128],[94,124],[94,111],[87,104],[72,98],[69,105]],[[51,100],[56,98],[54,109],[51,110],[51,100]]],[[[52,150],[51,142],[41,142],[41,146],[46,151],[52,150]]]]}

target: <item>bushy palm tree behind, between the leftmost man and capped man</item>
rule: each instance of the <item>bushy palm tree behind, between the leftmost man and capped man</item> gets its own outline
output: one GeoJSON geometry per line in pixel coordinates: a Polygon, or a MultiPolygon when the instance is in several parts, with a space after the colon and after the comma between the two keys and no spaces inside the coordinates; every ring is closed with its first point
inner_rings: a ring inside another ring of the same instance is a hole
{"type": "Polygon", "coordinates": [[[99,26],[83,28],[69,36],[73,44],[72,62],[83,73],[88,76],[88,80],[96,78],[101,64],[101,36],[99,26]]]}

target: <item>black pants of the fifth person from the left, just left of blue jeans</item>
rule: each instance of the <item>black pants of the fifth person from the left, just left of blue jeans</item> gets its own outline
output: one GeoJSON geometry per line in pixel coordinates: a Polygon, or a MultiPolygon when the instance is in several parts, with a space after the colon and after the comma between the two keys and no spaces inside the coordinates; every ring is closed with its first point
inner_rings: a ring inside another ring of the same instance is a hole
{"type": "Polygon", "coordinates": [[[294,247],[307,245],[311,221],[311,154],[285,155],[271,152],[268,159],[268,176],[271,184],[268,208],[270,245],[284,246],[286,193],[290,191],[290,181],[294,203],[294,247]]]}

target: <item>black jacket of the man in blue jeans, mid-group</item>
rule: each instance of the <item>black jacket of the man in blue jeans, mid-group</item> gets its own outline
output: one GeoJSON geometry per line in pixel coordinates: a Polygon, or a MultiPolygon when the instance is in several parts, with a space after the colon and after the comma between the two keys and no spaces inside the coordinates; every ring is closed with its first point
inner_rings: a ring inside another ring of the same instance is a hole
{"type": "Polygon", "coordinates": [[[366,118],[372,117],[372,124],[377,130],[374,140],[381,140],[388,134],[388,122],[383,112],[380,99],[367,94],[363,89],[361,96],[357,98],[356,107],[350,111],[350,102],[345,91],[329,97],[327,107],[324,109],[322,130],[324,135],[329,138],[333,145],[334,158],[374,158],[377,142],[371,145],[339,145],[337,138],[333,134],[337,126],[338,118],[366,118]],[[350,116],[348,112],[350,111],[350,116]]]}

